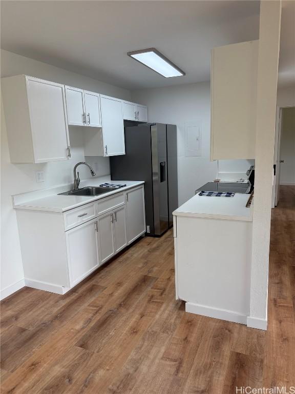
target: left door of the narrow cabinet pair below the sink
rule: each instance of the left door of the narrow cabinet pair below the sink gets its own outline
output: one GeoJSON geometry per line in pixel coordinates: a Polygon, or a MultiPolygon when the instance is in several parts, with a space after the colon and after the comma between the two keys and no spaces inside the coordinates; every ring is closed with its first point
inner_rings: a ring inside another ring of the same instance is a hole
{"type": "Polygon", "coordinates": [[[113,222],[114,216],[112,212],[105,213],[97,218],[100,254],[99,264],[105,263],[115,254],[113,222]]]}

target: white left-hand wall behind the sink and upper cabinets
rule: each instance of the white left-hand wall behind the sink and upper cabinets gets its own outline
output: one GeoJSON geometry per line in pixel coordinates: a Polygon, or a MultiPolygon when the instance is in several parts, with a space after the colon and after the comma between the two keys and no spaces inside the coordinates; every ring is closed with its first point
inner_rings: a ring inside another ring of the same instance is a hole
{"type": "MultiPolygon", "coordinates": [[[[128,90],[2,50],[1,76],[17,74],[36,76],[45,80],[130,100],[128,90]]],[[[1,115],[1,290],[3,295],[7,294],[10,287],[13,287],[19,281],[21,282],[24,277],[17,222],[12,208],[11,195],[73,182],[73,167],[78,161],[84,161],[85,156],[82,148],[82,129],[71,127],[72,160],[44,164],[11,164],[2,102],[1,115]],[[45,182],[36,183],[36,170],[44,171],[45,182]]],[[[87,157],[86,159],[94,165],[97,175],[110,173],[107,157],[87,157]]],[[[79,171],[81,179],[90,177],[86,167],[81,167],[79,171]]],[[[15,286],[17,288],[17,285],[15,286]]]]}

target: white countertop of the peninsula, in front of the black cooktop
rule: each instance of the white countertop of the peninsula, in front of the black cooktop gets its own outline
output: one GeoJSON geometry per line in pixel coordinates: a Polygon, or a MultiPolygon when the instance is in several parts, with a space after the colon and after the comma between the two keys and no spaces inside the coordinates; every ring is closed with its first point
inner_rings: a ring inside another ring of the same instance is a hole
{"type": "Polygon", "coordinates": [[[251,221],[252,208],[246,208],[249,196],[250,194],[238,193],[234,197],[209,197],[196,194],[173,214],[196,218],[251,221]]]}

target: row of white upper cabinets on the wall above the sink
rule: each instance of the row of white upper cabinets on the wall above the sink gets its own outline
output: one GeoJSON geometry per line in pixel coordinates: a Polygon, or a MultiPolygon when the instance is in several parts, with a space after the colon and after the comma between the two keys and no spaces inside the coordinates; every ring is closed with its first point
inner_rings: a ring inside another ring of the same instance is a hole
{"type": "Polygon", "coordinates": [[[12,163],[71,157],[70,126],[83,126],[86,156],[125,154],[124,119],[147,122],[147,108],[27,75],[2,78],[12,163]]]}

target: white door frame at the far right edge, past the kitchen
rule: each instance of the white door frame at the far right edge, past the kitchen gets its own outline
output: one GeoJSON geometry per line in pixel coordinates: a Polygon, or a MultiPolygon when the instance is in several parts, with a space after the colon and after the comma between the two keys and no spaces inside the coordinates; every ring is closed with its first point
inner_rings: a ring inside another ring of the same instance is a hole
{"type": "Polygon", "coordinates": [[[294,105],[277,105],[276,113],[276,134],[275,134],[275,149],[273,151],[273,165],[276,166],[273,170],[273,182],[272,182],[272,196],[271,196],[271,208],[275,208],[279,202],[280,194],[280,148],[281,148],[281,127],[282,127],[282,111],[284,108],[295,108],[294,105]]]}

